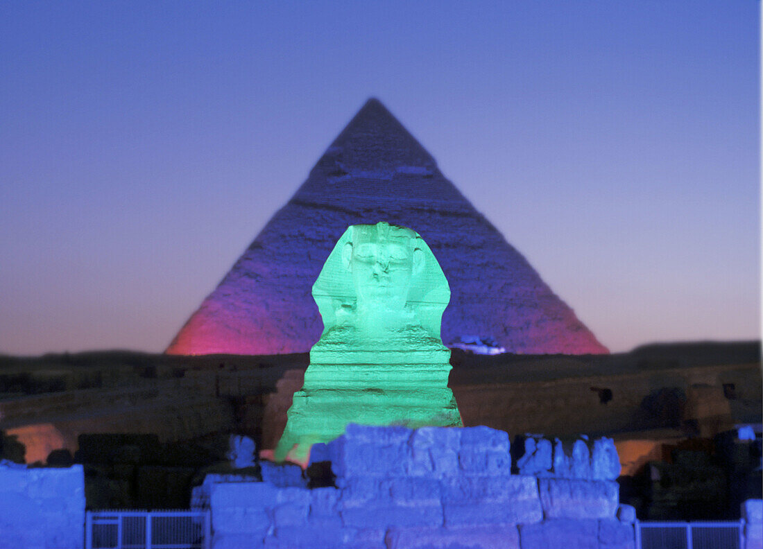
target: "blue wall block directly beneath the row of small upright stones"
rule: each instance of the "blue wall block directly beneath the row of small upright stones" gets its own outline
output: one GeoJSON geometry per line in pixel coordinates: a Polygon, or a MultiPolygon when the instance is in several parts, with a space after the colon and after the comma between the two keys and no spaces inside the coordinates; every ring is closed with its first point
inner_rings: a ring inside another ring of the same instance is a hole
{"type": "Polygon", "coordinates": [[[611,480],[542,478],[538,488],[546,519],[613,519],[619,504],[611,480]]]}

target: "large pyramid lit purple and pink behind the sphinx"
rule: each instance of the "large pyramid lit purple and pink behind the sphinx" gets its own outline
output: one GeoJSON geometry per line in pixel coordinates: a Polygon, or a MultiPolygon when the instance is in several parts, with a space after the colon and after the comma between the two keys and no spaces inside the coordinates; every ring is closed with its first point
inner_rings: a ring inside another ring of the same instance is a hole
{"type": "Polygon", "coordinates": [[[450,285],[442,336],[507,352],[607,353],[591,331],[377,99],[331,143],[167,348],[175,355],[308,352],[323,323],[311,287],[349,225],[407,226],[450,285]]]}

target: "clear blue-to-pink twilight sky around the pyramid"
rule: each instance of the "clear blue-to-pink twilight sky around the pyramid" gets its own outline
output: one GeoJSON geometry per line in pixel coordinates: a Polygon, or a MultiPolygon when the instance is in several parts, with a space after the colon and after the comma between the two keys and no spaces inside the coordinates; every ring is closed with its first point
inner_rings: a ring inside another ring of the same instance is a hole
{"type": "Polygon", "coordinates": [[[2,2],[0,352],[160,352],[370,96],[604,345],[760,331],[753,0],[2,2]]]}

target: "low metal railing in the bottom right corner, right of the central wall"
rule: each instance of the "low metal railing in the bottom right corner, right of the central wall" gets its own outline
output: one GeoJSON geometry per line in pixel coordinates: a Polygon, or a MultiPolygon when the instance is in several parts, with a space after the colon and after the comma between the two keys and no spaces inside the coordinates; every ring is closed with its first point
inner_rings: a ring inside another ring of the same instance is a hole
{"type": "Polygon", "coordinates": [[[639,522],[637,549],[742,549],[745,522],[639,522]]]}

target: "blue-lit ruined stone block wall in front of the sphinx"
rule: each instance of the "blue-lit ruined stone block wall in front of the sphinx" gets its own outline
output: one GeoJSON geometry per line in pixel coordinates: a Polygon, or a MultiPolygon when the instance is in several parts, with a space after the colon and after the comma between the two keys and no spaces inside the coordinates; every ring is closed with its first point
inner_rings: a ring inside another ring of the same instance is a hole
{"type": "Polygon", "coordinates": [[[591,454],[581,440],[565,455],[529,440],[520,471],[533,474],[512,475],[506,432],[349,425],[313,448],[312,461],[331,462],[336,487],[208,476],[193,499],[211,509],[215,549],[632,549],[636,516],[619,505],[611,441],[591,454]]]}

